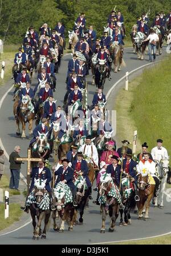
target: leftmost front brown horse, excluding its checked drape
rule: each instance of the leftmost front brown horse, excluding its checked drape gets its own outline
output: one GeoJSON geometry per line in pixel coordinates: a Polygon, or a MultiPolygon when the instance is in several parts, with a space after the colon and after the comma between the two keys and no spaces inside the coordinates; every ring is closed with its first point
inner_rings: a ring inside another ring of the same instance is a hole
{"type": "MultiPolygon", "coordinates": [[[[43,181],[42,181],[42,183],[43,183],[43,181]]],[[[44,186],[45,186],[45,183],[44,183],[44,186]]],[[[35,197],[35,201],[36,201],[36,203],[31,203],[30,206],[28,206],[28,208],[30,209],[30,214],[31,214],[31,218],[32,218],[32,226],[34,227],[32,239],[38,240],[40,235],[42,235],[42,237],[41,237],[42,239],[46,239],[46,230],[48,229],[48,227],[50,225],[50,215],[51,215],[50,199],[48,199],[49,195],[48,195],[48,192],[46,191],[46,189],[44,189],[44,188],[40,189],[40,187],[38,188],[36,186],[35,186],[35,189],[32,190],[32,194],[35,197]],[[42,202],[42,199],[45,198],[44,197],[45,195],[47,197],[47,203],[49,202],[49,207],[48,207],[49,209],[42,210],[39,208],[39,206],[40,206],[40,203],[42,202]],[[37,223],[36,223],[36,217],[38,219],[37,223]],[[44,219],[44,229],[42,232],[40,227],[41,227],[41,223],[42,223],[43,219],[44,219]]]]}

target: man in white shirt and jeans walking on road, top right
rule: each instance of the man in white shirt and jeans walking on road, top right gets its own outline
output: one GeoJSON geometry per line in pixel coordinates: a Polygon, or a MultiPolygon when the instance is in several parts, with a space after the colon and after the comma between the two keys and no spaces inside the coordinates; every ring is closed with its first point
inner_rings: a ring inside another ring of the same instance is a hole
{"type": "Polygon", "coordinates": [[[146,42],[146,41],[149,41],[149,45],[148,45],[149,61],[152,62],[152,51],[153,51],[153,61],[155,61],[155,59],[156,59],[156,43],[159,41],[159,37],[153,29],[150,30],[149,36],[143,42],[146,42]]]}

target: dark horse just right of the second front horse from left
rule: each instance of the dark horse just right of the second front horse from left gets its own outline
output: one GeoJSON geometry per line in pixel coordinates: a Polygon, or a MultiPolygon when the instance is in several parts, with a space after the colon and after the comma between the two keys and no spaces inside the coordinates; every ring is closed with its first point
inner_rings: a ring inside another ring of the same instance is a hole
{"type": "Polygon", "coordinates": [[[89,191],[86,185],[86,178],[83,178],[82,175],[79,175],[77,178],[75,177],[74,184],[76,186],[75,201],[78,203],[76,210],[79,210],[80,213],[79,224],[83,225],[84,208],[86,206],[87,198],[89,195],[89,191]]]}

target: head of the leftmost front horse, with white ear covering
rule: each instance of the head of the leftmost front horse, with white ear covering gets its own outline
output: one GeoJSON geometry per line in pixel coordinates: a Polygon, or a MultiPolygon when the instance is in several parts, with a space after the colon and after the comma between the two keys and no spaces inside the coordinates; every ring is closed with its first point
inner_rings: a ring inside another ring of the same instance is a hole
{"type": "Polygon", "coordinates": [[[44,196],[44,193],[46,192],[45,186],[46,186],[46,181],[45,179],[34,179],[34,188],[35,188],[35,198],[36,198],[36,203],[40,203],[42,201],[42,198],[44,196]]]}

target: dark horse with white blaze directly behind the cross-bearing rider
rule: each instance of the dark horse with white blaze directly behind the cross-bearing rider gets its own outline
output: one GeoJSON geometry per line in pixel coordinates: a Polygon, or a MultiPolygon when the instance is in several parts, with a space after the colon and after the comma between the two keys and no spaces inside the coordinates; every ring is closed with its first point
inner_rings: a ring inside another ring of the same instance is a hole
{"type": "Polygon", "coordinates": [[[50,157],[50,145],[47,142],[47,134],[44,133],[39,133],[39,137],[36,139],[36,142],[34,143],[34,145],[32,145],[32,149],[31,149],[31,154],[32,157],[41,157],[44,158],[45,160],[48,159],[50,157]]]}

